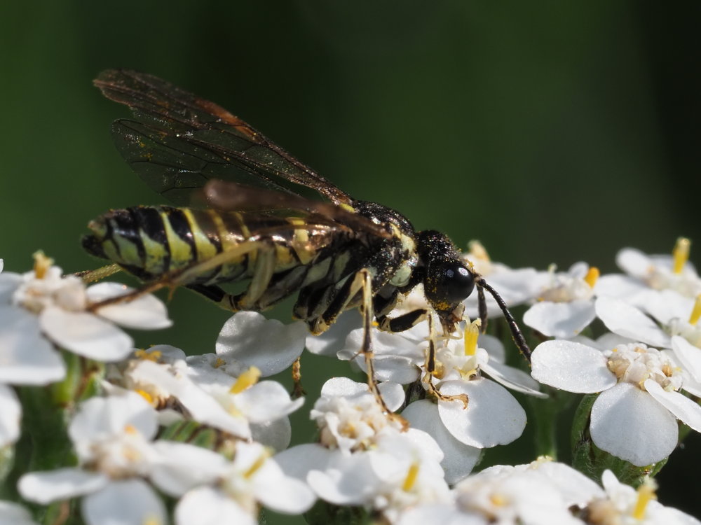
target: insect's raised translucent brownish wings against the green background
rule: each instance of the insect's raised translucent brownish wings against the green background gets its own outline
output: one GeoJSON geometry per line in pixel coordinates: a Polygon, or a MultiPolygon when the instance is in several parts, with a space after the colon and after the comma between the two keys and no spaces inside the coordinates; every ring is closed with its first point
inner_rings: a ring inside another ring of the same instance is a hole
{"type": "Polygon", "coordinates": [[[336,204],[351,199],[229,111],[145,73],[109,69],[95,85],[132,109],[135,120],[117,120],[118,150],[156,192],[188,204],[208,179],[244,181],[284,190],[289,181],[318,191],[336,204]],[[243,174],[242,174],[243,171],[243,174]]]}

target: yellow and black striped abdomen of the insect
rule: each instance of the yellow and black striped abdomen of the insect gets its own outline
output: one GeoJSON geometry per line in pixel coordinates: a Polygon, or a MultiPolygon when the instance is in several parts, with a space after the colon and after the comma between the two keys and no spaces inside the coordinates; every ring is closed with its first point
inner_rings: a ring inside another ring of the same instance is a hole
{"type": "MultiPolygon", "coordinates": [[[[217,253],[254,237],[260,249],[274,249],[273,273],[308,265],[334,241],[328,228],[299,228],[299,218],[172,207],[135,207],[109,211],[88,228],[83,247],[152,281],[169,272],[196,267],[217,253]],[[298,228],[295,228],[295,225],[298,228]]],[[[337,233],[337,232],[335,232],[337,233]]],[[[184,284],[214,284],[252,278],[259,250],[229,260],[184,284]]]]}

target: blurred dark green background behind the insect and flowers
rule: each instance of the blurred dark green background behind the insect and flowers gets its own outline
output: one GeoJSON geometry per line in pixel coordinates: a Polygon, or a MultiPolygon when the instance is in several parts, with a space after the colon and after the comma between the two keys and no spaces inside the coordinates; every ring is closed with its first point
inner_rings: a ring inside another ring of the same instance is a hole
{"type": "MultiPolygon", "coordinates": [[[[79,244],[90,218],[163,204],[112,146],[109,123],[128,112],[90,83],[112,67],[211,99],[351,195],[459,246],[480,239],[515,267],[613,271],[623,246],[701,239],[697,2],[29,1],[1,13],[6,270],[28,269],[37,248],[69,272],[96,267],[79,244]]],[[[175,328],[139,344],[212,350],[225,312],[186,291],[171,311],[175,328]]],[[[701,442],[688,445],[660,498],[699,514],[683,489],[697,486],[701,442]]]]}

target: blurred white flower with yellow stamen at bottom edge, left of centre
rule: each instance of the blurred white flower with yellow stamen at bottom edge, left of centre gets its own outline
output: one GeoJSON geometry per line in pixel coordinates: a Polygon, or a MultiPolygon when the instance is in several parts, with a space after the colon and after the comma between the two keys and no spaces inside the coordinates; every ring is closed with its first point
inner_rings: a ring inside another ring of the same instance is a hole
{"type": "MultiPolygon", "coordinates": [[[[258,522],[258,507],[301,514],[313,505],[312,491],[285,475],[261,444],[238,442],[232,462],[212,456],[203,486],[186,493],[175,508],[178,525],[250,524],[258,522]]],[[[193,465],[194,466],[194,465],[193,465]]]]}

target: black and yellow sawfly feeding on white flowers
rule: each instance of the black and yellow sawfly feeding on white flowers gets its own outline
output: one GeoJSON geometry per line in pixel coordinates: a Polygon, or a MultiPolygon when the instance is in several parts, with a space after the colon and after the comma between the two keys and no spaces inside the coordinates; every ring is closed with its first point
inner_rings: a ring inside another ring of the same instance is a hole
{"type": "MultiPolygon", "coordinates": [[[[165,80],[108,70],[95,85],[133,112],[133,119],[112,126],[132,169],[174,204],[191,204],[199,195],[205,205],[117,209],[95,219],[83,246],[114,265],[88,272],[86,279],[123,269],[147,283],[136,294],[185,286],[231,311],[261,311],[297,292],[293,314],[314,334],[327,330],[342,311],[360,307],[360,351],[380,401],[372,322],[400,332],[435,313],[447,335],[463,318],[462,302],[475,286],[480,316],[486,317],[487,290],[529,356],[501,297],[465,265],[446,235],[417,232],[399,212],[353,199],[229,111],[165,80]],[[302,187],[325,200],[303,197],[302,187]],[[250,283],[238,295],[219,287],[243,280],[250,283]],[[419,283],[432,311],[388,317],[400,294],[419,283]]],[[[430,347],[429,372],[435,344],[430,347]]]]}

